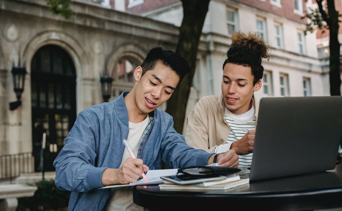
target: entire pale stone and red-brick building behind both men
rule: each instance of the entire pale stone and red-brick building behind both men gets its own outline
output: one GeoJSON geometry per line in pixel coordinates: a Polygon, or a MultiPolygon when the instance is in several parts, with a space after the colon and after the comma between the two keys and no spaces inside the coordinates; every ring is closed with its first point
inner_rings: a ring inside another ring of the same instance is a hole
{"type": "MultiPolygon", "coordinates": [[[[77,114],[104,101],[104,72],[114,79],[111,100],[131,89],[132,70],[150,48],[175,50],[183,18],[179,0],[96,2],[72,0],[74,15],[64,19],[44,0],[0,0],[0,156],[28,152],[35,158],[30,169],[38,171],[46,132],[45,170],[53,171],[77,114]],[[16,100],[12,62],[27,71],[15,110],[9,107],[16,100]]],[[[222,64],[236,30],[256,31],[272,47],[256,97],[329,95],[316,35],[304,36],[303,8],[302,0],[211,0],[187,112],[200,97],[221,93],[222,64]]]]}

